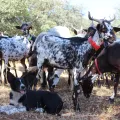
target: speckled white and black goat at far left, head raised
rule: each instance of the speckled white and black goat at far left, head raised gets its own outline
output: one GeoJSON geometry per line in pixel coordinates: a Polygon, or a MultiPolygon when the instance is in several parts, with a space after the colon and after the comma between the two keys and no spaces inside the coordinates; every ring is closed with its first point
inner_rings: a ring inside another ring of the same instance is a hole
{"type": "MultiPolygon", "coordinates": [[[[24,23],[21,26],[16,26],[16,28],[23,31],[23,36],[0,37],[0,65],[2,66],[2,60],[4,60],[5,68],[7,68],[8,61],[20,60],[26,70],[25,59],[29,56],[30,48],[33,44],[31,41],[35,41],[35,37],[29,34],[29,30],[32,28],[30,24],[24,23]]],[[[10,65],[8,64],[8,66],[10,65]]],[[[17,76],[16,69],[15,74],[17,76]]]]}

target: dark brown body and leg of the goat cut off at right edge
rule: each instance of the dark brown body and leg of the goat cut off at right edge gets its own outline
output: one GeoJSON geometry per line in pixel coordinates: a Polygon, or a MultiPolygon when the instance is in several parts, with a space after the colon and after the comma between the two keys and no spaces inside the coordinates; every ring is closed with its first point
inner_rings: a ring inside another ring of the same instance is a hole
{"type": "MultiPolygon", "coordinates": [[[[117,40],[113,44],[109,45],[107,48],[104,48],[100,54],[97,56],[97,64],[99,71],[101,73],[115,73],[115,79],[114,81],[114,92],[113,95],[110,97],[110,102],[114,101],[114,97],[117,94],[117,87],[119,83],[119,78],[120,78],[120,41],[117,40]]],[[[96,67],[95,62],[93,65],[89,68],[92,73],[99,73],[98,69],[96,67]]],[[[87,73],[89,73],[87,72],[87,73]]]]}

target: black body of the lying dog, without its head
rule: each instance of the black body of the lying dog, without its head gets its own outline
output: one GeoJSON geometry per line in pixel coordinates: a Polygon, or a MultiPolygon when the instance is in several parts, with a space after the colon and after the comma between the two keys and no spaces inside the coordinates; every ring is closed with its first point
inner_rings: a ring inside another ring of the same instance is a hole
{"type": "Polygon", "coordinates": [[[26,107],[26,110],[43,108],[50,114],[58,114],[62,107],[63,101],[56,93],[48,91],[28,90],[18,101],[26,107]]]}

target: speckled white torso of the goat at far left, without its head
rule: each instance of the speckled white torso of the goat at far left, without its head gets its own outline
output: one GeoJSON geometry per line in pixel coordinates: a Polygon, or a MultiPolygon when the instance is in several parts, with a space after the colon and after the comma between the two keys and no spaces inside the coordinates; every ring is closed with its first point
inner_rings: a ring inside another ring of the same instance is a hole
{"type": "Polygon", "coordinates": [[[29,40],[24,36],[1,38],[0,58],[5,61],[5,68],[7,68],[9,60],[18,61],[28,57],[30,47],[29,40]]]}

